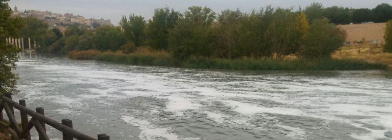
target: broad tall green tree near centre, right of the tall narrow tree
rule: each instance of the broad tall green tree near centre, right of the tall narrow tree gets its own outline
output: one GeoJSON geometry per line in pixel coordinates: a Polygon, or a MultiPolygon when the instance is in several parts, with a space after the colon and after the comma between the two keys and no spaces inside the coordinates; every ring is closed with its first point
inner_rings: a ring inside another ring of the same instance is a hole
{"type": "Polygon", "coordinates": [[[209,57],[212,54],[215,13],[207,7],[189,7],[184,18],[170,31],[169,50],[177,60],[191,55],[209,57]]]}

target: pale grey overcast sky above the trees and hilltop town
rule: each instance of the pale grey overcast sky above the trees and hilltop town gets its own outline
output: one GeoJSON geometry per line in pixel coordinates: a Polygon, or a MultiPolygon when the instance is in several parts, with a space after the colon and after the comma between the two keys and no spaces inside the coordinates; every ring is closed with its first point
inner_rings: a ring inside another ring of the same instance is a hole
{"type": "Polygon", "coordinates": [[[185,11],[189,6],[207,6],[216,13],[225,9],[237,9],[249,12],[267,5],[281,8],[302,8],[319,2],[324,7],[342,6],[352,8],[374,8],[381,3],[392,5],[392,0],[11,0],[9,5],[19,10],[40,10],[54,13],[73,13],[86,18],[110,19],[115,25],[122,15],[142,15],[150,19],[156,8],[169,7],[176,11],[185,11]]]}

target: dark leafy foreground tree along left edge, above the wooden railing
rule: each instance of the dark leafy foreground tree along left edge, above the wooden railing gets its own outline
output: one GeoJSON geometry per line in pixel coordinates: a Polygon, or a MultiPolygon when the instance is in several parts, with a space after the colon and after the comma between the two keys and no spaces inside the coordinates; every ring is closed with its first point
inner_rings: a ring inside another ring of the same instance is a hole
{"type": "Polygon", "coordinates": [[[15,88],[17,75],[12,73],[18,61],[18,49],[6,44],[8,37],[18,37],[19,29],[24,25],[19,17],[11,17],[12,11],[7,0],[0,0],[0,94],[17,93],[15,88]]]}

